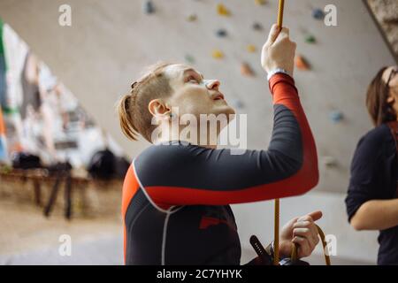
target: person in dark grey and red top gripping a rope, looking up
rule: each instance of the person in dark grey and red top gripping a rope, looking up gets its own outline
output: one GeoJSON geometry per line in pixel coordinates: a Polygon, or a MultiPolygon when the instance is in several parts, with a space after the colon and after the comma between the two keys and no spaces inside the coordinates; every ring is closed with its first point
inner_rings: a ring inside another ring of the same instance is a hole
{"type": "MultiPolygon", "coordinates": [[[[199,119],[201,114],[234,113],[218,80],[204,80],[186,65],[161,64],[132,85],[119,103],[122,130],[132,140],[141,134],[156,145],[136,157],[126,174],[126,264],[240,264],[241,244],[229,204],[300,195],[317,185],[315,142],[292,79],[294,57],[288,30],[279,33],[273,26],[262,55],[275,110],[267,151],[233,155],[216,149],[202,129],[180,138],[184,126],[172,123],[184,115],[199,119]],[[153,134],[159,128],[161,134],[153,134]]],[[[210,128],[208,123],[200,127],[210,128]]],[[[281,257],[290,255],[292,242],[299,245],[300,257],[310,255],[318,243],[314,221],[320,217],[317,211],[287,223],[281,257]]],[[[272,246],[268,250],[272,254],[272,246]]]]}

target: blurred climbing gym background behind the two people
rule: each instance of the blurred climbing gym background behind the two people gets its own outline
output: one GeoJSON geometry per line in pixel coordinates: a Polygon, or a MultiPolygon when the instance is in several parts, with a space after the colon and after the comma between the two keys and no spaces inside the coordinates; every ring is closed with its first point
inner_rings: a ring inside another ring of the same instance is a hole
{"type": "MultiPolygon", "coordinates": [[[[146,65],[182,62],[220,80],[248,115],[248,148],[266,148],[272,103],[260,55],[277,9],[277,0],[0,0],[0,264],[123,263],[121,186],[149,143],[122,136],[114,104],[146,65]],[[71,256],[58,252],[64,234],[71,256]]],[[[281,221],[323,210],[332,264],[375,264],[378,233],[348,225],[344,198],[356,143],[371,129],[366,88],[397,62],[398,3],[287,0],[284,25],[298,44],[320,182],[281,200],[281,221]]],[[[272,241],[273,204],[233,211],[244,264],[255,256],[251,234],[272,241]]],[[[322,249],[307,260],[323,264],[322,249]]]]}

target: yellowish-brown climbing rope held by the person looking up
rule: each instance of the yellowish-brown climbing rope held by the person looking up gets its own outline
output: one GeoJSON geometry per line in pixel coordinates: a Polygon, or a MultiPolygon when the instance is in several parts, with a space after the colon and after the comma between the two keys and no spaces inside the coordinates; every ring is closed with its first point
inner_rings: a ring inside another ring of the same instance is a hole
{"type": "MultiPolygon", "coordinates": [[[[283,26],[283,11],[285,8],[285,0],[279,0],[279,5],[278,5],[278,27],[279,29],[282,28],[283,26]]],[[[326,252],[327,248],[327,242],[325,240],[325,233],[322,231],[322,229],[317,225],[318,228],[318,234],[319,237],[322,241],[322,246],[324,248],[324,256],[325,256],[325,263],[326,265],[331,265],[330,263],[330,256],[326,252]]],[[[279,265],[279,199],[275,199],[275,205],[274,205],[274,234],[273,234],[273,264],[274,265],[279,265]]],[[[296,244],[292,245],[292,254],[290,256],[290,259],[295,262],[297,260],[297,252],[298,252],[298,247],[296,244]]]]}

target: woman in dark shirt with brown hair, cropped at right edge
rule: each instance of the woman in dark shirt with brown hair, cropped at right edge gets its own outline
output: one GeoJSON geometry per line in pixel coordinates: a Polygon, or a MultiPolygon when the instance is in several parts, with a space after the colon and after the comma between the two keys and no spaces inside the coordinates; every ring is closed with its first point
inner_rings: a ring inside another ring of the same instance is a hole
{"type": "Polygon", "coordinates": [[[397,67],[384,67],[371,81],[366,105],[375,128],[359,141],[351,164],[346,205],[356,230],[379,230],[378,264],[398,264],[397,67]]]}

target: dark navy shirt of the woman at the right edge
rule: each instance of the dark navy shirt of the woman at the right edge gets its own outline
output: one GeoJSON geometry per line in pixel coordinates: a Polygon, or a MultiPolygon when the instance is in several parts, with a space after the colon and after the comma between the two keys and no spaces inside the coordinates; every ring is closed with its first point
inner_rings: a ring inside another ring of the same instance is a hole
{"type": "MultiPolygon", "coordinates": [[[[351,164],[346,206],[348,221],[371,200],[396,196],[398,163],[394,137],[387,125],[372,129],[358,142],[351,164]]],[[[398,264],[398,226],[379,233],[378,264],[398,264]]]]}

